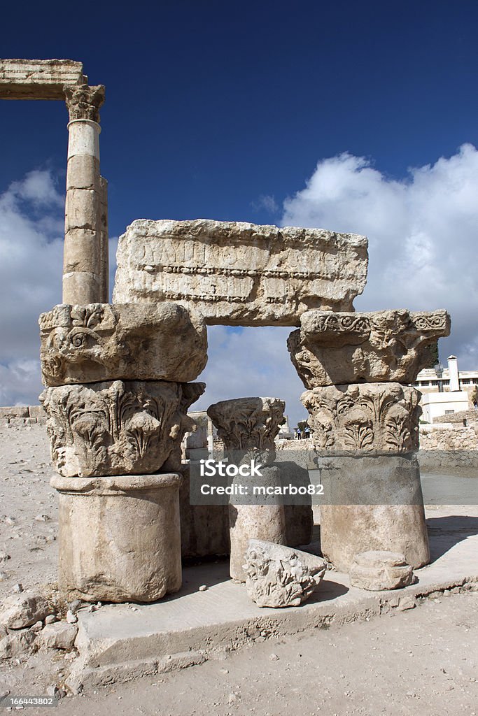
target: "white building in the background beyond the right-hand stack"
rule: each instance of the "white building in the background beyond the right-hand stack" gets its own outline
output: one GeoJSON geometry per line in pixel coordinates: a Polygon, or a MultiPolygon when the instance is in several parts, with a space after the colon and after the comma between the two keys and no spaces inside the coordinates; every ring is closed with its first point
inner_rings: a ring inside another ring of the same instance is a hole
{"type": "Polygon", "coordinates": [[[420,405],[423,419],[434,422],[442,415],[470,410],[472,393],[478,385],[478,370],[458,369],[457,356],[449,356],[448,368],[436,364],[434,368],[421,370],[414,387],[421,393],[420,405]]]}

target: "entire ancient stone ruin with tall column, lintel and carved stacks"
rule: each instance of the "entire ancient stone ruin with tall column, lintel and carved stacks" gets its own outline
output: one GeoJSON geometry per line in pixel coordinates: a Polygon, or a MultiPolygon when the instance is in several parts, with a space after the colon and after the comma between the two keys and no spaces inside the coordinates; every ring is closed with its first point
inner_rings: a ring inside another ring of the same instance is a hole
{"type": "MultiPolygon", "coordinates": [[[[0,98],[63,100],[70,115],[63,302],[39,319],[61,588],[87,601],[155,601],[181,589],[181,552],[230,553],[232,578],[259,606],[300,604],[320,583],[325,563],[290,549],[310,542],[310,505],[189,503],[181,440],[204,392],[194,381],[208,324],[297,328],[288,349],[327,495],[322,554],[367,589],[408,584],[429,561],[420,394],[408,384],[449,334],[446,311],[356,313],[363,236],[204,219],[133,222],[109,304],[105,88],[79,62],[0,60],[0,98]]],[[[209,408],[227,450],[261,456],[268,485],[282,480],[283,410],[262,397],[209,408]]]]}

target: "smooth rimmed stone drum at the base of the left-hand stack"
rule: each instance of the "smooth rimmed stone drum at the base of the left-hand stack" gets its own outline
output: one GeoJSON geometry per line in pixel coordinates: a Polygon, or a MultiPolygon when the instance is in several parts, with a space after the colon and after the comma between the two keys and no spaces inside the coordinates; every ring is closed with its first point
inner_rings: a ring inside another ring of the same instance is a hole
{"type": "Polygon", "coordinates": [[[176,474],[52,478],[68,598],[150,602],[181,588],[180,482],[176,474]]]}

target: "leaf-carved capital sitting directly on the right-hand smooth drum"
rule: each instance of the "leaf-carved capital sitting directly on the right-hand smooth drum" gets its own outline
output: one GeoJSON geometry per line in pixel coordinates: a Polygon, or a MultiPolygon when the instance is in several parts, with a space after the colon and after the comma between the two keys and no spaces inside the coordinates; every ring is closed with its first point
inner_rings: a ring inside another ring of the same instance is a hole
{"type": "Polygon", "coordinates": [[[302,393],[316,450],[419,449],[421,393],[398,383],[329,385],[302,393]]]}

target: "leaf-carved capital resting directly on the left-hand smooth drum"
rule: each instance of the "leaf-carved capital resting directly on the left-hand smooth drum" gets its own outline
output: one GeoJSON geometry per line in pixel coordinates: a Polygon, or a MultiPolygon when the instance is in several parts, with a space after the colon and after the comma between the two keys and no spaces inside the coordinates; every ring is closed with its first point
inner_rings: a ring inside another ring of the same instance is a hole
{"type": "Polygon", "coordinates": [[[156,473],[181,451],[204,383],[114,381],[47,388],[52,461],[64,477],[156,473]]]}

